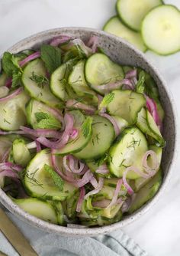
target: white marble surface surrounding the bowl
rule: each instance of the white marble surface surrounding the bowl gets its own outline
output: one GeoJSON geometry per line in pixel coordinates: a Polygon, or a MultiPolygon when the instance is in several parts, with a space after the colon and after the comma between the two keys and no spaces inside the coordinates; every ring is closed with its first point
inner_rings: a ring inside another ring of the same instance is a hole
{"type": "MultiPolygon", "coordinates": [[[[136,0],[134,0],[136,1],[136,0]]],[[[180,8],[179,0],[169,0],[180,8]]],[[[48,28],[83,26],[102,28],[114,15],[115,0],[0,0],[0,54],[12,44],[48,28]]],[[[180,109],[180,52],[146,56],[162,73],[180,109]]],[[[178,120],[180,121],[180,119],[178,120]]],[[[124,228],[152,256],[180,255],[180,159],[166,193],[138,221],[124,228]]]]}

